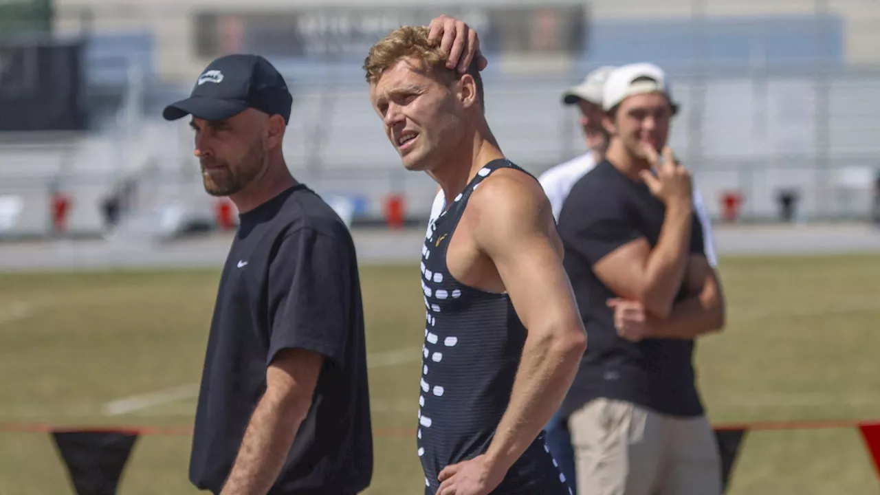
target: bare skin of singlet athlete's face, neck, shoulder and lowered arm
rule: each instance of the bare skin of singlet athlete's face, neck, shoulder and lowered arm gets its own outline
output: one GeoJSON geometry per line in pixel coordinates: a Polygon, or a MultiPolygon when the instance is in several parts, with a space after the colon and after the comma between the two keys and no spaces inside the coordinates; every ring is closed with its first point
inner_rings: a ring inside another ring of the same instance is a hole
{"type": "MultiPolygon", "coordinates": [[[[488,129],[472,76],[420,70],[403,60],[370,85],[370,100],[407,170],[423,171],[454,203],[466,184],[504,155],[488,129]],[[448,81],[448,82],[446,82],[448,81]]],[[[474,188],[475,189],[475,188],[474,188]]],[[[537,181],[496,170],[473,192],[447,241],[451,277],[506,293],[529,329],[510,403],[486,450],[444,466],[437,493],[485,495],[502,483],[573,380],[586,347],[553,214],[537,181]]]]}

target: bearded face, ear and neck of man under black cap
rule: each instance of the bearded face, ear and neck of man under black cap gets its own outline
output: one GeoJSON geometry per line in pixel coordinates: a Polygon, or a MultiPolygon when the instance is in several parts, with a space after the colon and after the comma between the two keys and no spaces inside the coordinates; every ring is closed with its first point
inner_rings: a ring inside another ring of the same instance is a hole
{"type": "Polygon", "coordinates": [[[281,152],[284,119],[248,108],[224,121],[193,118],[195,156],[212,196],[229,196],[238,211],[252,210],[296,181],[281,152]]]}

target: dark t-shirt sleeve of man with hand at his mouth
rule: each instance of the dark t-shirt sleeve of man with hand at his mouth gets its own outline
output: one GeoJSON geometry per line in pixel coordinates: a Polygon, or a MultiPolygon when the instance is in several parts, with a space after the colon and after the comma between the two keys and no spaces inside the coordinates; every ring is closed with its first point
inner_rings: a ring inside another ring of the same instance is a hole
{"type": "Polygon", "coordinates": [[[567,247],[590,266],[628,242],[644,237],[624,205],[598,202],[595,196],[571,194],[560,218],[560,231],[567,247]]]}

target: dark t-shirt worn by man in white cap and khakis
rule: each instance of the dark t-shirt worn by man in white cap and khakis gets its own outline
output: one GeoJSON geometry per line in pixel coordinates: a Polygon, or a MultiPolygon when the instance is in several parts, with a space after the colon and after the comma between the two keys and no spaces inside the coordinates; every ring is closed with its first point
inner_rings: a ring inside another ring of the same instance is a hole
{"type": "MultiPolygon", "coordinates": [[[[632,343],[617,335],[613,310],[618,297],[593,273],[593,265],[618,247],[644,238],[655,247],[664,203],[641,181],[621,174],[607,160],[577,181],[560,213],[565,269],[587,330],[587,351],[562,403],[570,414],[598,397],[639,404],[664,414],[703,414],[694,383],[693,339],[648,338],[632,343]]],[[[693,215],[690,252],[703,255],[700,220],[693,215]]],[[[686,298],[684,284],[675,301],[686,298]]]]}

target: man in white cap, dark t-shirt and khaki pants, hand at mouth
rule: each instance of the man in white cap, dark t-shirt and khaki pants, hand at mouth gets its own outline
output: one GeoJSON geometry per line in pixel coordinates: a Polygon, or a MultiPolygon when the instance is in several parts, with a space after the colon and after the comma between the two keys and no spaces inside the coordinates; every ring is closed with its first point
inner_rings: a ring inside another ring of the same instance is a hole
{"type": "Polygon", "coordinates": [[[720,462],[693,345],[722,329],[724,299],[690,174],[666,146],[678,105],[664,71],[649,63],[614,70],[602,105],[605,159],[576,181],[558,218],[590,338],[560,410],[577,490],[718,495],[720,462]]]}

